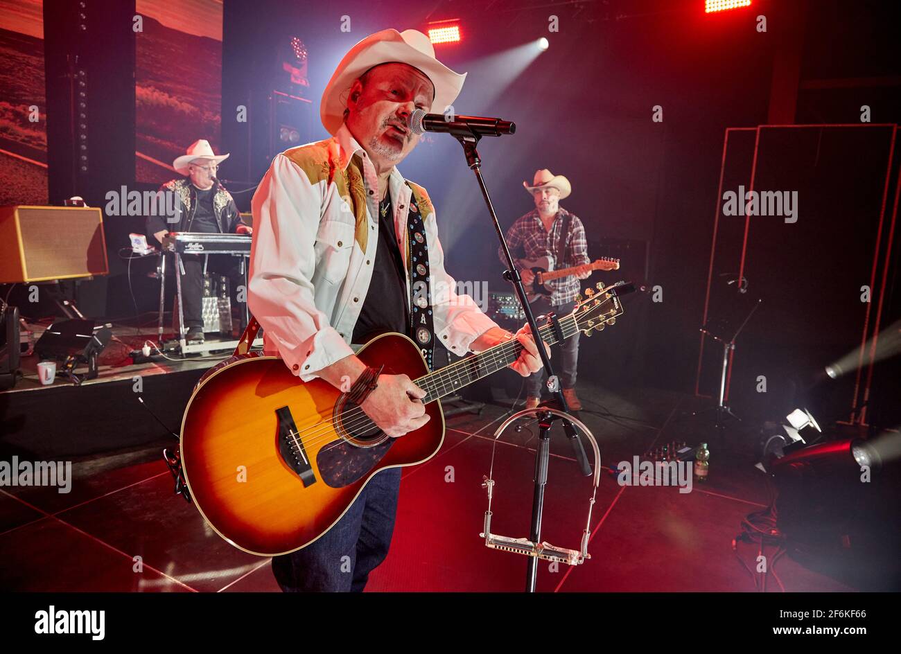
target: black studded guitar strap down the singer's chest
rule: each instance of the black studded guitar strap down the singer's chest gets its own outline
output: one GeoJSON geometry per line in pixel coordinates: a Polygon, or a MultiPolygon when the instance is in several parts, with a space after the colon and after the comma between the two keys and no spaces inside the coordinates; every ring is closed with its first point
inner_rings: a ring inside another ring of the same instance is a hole
{"type": "Polygon", "coordinates": [[[423,214],[414,195],[406,214],[409,256],[407,272],[410,276],[410,335],[423,353],[423,359],[433,370],[435,328],[432,321],[432,273],[429,270],[429,243],[425,237],[423,214]]]}

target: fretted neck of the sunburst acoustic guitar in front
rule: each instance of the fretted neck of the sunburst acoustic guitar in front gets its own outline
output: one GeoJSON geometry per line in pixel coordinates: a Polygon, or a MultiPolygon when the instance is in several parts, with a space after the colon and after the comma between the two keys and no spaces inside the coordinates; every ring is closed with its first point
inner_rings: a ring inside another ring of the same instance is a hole
{"type": "MultiPolygon", "coordinates": [[[[578,332],[578,324],[574,314],[560,318],[560,331],[563,332],[564,339],[568,339],[578,332]]],[[[557,337],[554,335],[550,324],[542,327],[539,332],[542,340],[548,345],[553,345],[557,342],[557,337]]],[[[452,363],[450,366],[435,370],[424,377],[414,379],[414,382],[416,386],[426,391],[427,395],[423,398],[423,403],[428,404],[445,395],[451,395],[460,388],[469,386],[479,379],[496,373],[498,370],[503,370],[516,359],[519,359],[519,354],[522,351],[523,344],[519,341],[515,339],[513,341],[505,341],[484,352],[470,355],[457,363],[452,363]]]]}

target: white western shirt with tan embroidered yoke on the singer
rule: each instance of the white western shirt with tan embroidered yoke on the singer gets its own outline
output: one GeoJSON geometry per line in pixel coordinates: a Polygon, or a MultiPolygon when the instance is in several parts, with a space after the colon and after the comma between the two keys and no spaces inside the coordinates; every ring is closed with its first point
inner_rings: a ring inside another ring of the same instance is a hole
{"type": "MultiPolygon", "coordinates": [[[[423,213],[432,275],[435,340],[463,355],[496,323],[469,295],[457,295],[425,189],[392,168],[388,192],[410,275],[406,239],[411,196],[423,213]]],[[[286,150],[272,161],[252,200],[247,301],[264,330],[263,350],[304,381],[353,353],[350,337],[369,289],[378,249],[378,177],[342,125],[334,137],[286,150]]]]}

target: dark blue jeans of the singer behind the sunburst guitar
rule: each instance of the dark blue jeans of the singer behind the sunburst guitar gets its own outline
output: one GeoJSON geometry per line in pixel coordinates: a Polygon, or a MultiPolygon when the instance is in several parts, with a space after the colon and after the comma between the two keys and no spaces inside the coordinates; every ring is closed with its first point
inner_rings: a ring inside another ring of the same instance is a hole
{"type": "Polygon", "coordinates": [[[391,545],[401,468],[382,470],[347,513],[303,550],[272,559],[272,573],[286,593],[361,592],[369,573],[391,545]]]}

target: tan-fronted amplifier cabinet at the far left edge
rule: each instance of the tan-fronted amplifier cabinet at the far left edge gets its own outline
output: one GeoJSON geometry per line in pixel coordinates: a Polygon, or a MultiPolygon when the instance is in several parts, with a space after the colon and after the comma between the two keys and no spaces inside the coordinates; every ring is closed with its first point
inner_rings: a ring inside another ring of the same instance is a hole
{"type": "Polygon", "coordinates": [[[104,219],[99,208],[0,207],[0,283],[108,273],[104,219]]]}

